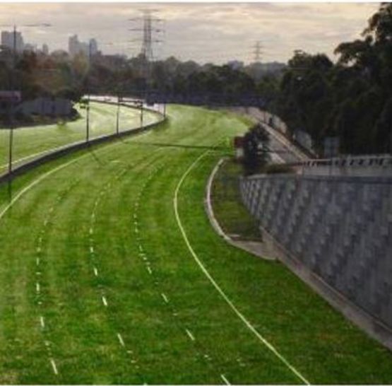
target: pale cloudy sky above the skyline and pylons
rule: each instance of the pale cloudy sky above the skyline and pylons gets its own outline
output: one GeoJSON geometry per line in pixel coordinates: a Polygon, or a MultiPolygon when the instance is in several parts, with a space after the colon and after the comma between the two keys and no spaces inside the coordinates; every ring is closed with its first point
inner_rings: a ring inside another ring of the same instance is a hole
{"type": "MultiPolygon", "coordinates": [[[[70,35],[95,37],[106,54],[133,56],[141,49],[142,27],[130,18],[155,10],[153,50],[159,59],[174,55],[197,62],[254,60],[261,41],[261,62],[287,62],[295,49],[323,52],[360,37],[377,3],[0,3],[0,25],[16,24],[25,42],[67,49],[70,35]],[[51,23],[49,28],[26,24],[51,23]]],[[[1,30],[7,30],[1,27],[1,30]]]]}

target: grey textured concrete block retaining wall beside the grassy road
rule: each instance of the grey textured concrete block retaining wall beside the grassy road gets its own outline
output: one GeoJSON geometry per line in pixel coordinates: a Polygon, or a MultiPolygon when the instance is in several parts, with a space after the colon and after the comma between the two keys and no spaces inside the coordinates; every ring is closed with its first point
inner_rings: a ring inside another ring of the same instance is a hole
{"type": "Polygon", "coordinates": [[[259,175],[240,182],[263,230],[392,329],[392,178],[259,175]]]}

